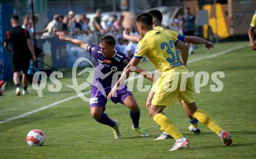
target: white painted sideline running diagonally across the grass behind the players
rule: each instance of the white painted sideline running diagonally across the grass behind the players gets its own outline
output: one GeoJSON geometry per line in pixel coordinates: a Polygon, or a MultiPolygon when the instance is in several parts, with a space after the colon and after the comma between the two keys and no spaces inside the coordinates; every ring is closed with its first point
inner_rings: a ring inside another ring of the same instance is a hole
{"type": "MultiPolygon", "coordinates": [[[[221,55],[224,55],[225,53],[232,52],[233,50],[237,50],[237,49],[244,48],[245,46],[247,46],[247,44],[246,44],[246,45],[236,46],[236,47],[230,48],[230,49],[226,49],[226,50],[223,50],[222,52],[215,53],[214,55],[209,55],[209,56],[199,57],[199,58],[196,58],[196,59],[193,59],[193,60],[189,60],[189,62],[187,62],[187,63],[194,63],[194,62],[198,62],[198,61],[200,61],[200,60],[212,59],[212,58],[214,58],[214,57],[216,57],[216,56],[221,56],[221,55]]],[[[151,71],[151,72],[154,72],[154,71],[151,71]]],[[[136,79],[136,78],[138,78],[138,77],[139,77],[139,75],[136,75],[136,77],[129,78],[128,80],[129,80],[129,81],[130,81],[130,80],[134,80],[134,79],[136,79]]],[[[141,76],[141,77],[142,77],[142,76],[141,76]]],[[[0,121],[0,124],[3,124],[3,123],[5,123],[5,122],[9,122],[9,121],[12,121],[12,120],[16,120],[16,119],[18,119],[18,118],[26,117],[26,116],[28,116],[28,115],[30,115],[30,114],[34,114],[34,113],[37,113],[38,111],[48,109],[49,107],[56,106],[56,105],[61,104],[61,103],[63,103],[63,102],[67,102],[67,101],[72,100],[72,99],[74,99],[74,98],[77,98],[77,97],[79,97],[79,96],[81,96],[81,95],[87,95],[87,94],[90,93],[90,92],[91,92],[91,91],[87,91],[87,92],[81,93],[81,94],[76,95],[76,96],[68,97],[68,98],[66,98],[66,99],[59,100],[59,101],[54,102],[54,103],[52,103],[52,104],[48,104],[47,106],[40,107],[39,109],[35,109],[35,110],[33,110],[33,111],[29,111],[29,112],[27,112],[27,113],[17,115],[16,117],[8,118],[8,119],[6,119],[6,120],[0,121]]]]}

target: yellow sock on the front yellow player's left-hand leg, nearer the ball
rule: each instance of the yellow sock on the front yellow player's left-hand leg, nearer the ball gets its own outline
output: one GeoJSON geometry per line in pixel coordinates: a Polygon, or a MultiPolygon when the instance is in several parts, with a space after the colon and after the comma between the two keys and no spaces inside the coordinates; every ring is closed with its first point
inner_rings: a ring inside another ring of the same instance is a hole
{"type": "Polygon", "coordinates": [[[176,140],[183,137],[182,133],[177,130],[175,125],[172,124],[172,122],[166,117],[166,115],[162,113],[157,113],[153,117],[153,120],[157,122],[158,125],[160,125],[161,129],[163,129],[165,132],[168,132],[169,135],[176,140]]]}

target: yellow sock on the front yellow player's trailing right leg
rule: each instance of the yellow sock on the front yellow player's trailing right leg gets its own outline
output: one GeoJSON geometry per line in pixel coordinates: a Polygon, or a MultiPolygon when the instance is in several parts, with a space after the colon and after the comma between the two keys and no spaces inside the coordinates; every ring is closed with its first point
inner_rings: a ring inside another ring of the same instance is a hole
{"type": "Polygon", "coordinates": [[[217,135],[222,131],[222,128],[214,121],[214,119],[201,109],[197,109],[193,114],[193,118],[196,118],[202,124],[205,124],[209,129],[214,131],[217,135]]]}

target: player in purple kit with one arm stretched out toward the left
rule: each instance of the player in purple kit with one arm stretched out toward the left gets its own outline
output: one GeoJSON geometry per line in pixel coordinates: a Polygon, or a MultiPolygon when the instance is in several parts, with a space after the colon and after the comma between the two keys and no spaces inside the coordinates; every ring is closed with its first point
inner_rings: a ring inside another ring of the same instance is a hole
{"type": "MultiPolygon", "coordinates": [[[[112,79],[112,76],[116,71],[120,71],[122,73],[123,68],[125,68],[130,62],[129,57],[122,52],[115,50],[115,38],[111,35],[101,37],[99,39],[99,45],[91,45],[79,39],[69,38],[60,31],[55,34],[58,35],[61,40],[72,42],[73,44],[86,49],[87,52],[94,57],[95,75],[90,97],[91,116],[101,124],[112,127],[114,138],[120,138],[119,121],[112,120],[106,113],[104,113],[104,111],[107,101],[106,96],[111,91],[112,80],[114,81],[113,85],[115,85],[115,82],[118,80],[116,79],[115,81],[115,79],[112,79]],[[101,77],[101,74],[104,74],[106,77],[101,77]]],[[[147,74],[144,77],[152,77],[150,76],[150,73],[140,67],[136,67],[135,72],[144,72],[147,74]]],[[[148,79],[151,81],[154,80],[154,78],[148,79]]],[[[148,132],[139,126],[140,108],[138,107],[132,93],[127,89],[127,86],[125,85],[123,89],[120,89],[116,93],[117,96],[112,97],[111,100],[113,103],[121,103],[130,109],[130,117],[133,122],[132,128],[134,131],[138,132],[140,136],[149,136],[148,132]]]]}

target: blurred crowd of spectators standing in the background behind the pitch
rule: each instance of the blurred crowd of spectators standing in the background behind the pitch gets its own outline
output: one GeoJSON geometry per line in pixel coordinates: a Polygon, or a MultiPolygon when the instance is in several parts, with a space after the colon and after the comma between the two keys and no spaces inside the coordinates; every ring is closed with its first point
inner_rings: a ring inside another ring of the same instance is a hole
{"type": "MultiPolygon", "coordinates": [[[[178,16],[171,26],[166,27],[177,31],[180,34],[194,35],[195,18],[189,11],[190,9],[186,8],[183,16],[178,16]]],[[[36,26],[39,16],[34,15],[34,20],[36,26]]],[[[137,44],[129,42],[123,38],[123,30],[125,29],[123,20],[123,15],[102,16],[100,9],[96,10],[93,19],[90,19],[86,15],[75,15],[75,13],[70,10],[67,15],[54,15],[53,19],[47,24],[44,30],[36,30],[35,38],[55,37],[56,31],[63,31],[70,37],[82,39],[91,44],[97,44],[98,39],[103,35],[112,35],[116,38],[116,50],[124,52],[127,56],[132,57],[137,44]],[[92,20],[91,23],[90,20],[92,20]]],[[[34,38],[33,17],[24,16],[22,27],[29,31],[31,38],[34,38]]],[[[138,34],[135,26],[131,26],[131,34],[138,34]]],[[[190,53],[193,53],[193,46],[190,46],[190,53]]]]}

